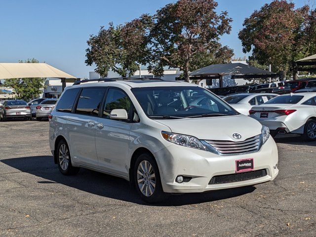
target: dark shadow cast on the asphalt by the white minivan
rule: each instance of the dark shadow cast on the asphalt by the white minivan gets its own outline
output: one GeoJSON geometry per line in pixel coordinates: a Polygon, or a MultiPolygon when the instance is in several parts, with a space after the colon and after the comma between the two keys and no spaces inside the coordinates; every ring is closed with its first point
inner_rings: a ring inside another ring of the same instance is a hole
{"type": "MultiPolygon", "coordinates": [[[[37,182],[40,185],[47,186],[60,183],[87,193],[147,205],[147,203],[140,199],[136,190],[134,187],[130,186],[128,181],[87,169],[80,169],[80,172],[77,175],[66,177],[59,172],[57,165],[53,163],[53,158],[51,156],[9,158],[0,161],[22,172],[46,179],[46,181],[37,182]]],[[[255,189],[256,188],[253,186],[247,186],[201,194],[170,195],[165,201],[156,205],[180,206],[209,202],[241,196],[251,193],[255,189]]]]}

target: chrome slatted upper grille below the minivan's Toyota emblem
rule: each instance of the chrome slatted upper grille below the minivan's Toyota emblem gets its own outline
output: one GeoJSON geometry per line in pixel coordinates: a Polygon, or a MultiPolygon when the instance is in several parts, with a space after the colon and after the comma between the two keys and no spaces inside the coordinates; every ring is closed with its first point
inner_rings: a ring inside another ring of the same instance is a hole
{"type": "Polygon", "coordinates": [[[209,145],[215,148],[221,155],[239,155],[256,152],[260,149],[260,135],[250,137],[242,142],[206,140],[209,145]]]}

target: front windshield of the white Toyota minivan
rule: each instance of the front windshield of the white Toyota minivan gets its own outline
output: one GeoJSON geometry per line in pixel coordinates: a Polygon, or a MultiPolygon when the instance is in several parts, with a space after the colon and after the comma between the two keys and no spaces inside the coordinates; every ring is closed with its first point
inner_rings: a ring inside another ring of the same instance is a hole
{"type": "Polygon", "coordinates": [[[208,90],[197,86],[139,87],[132,88],[131,91],[148,117],[185,118],[238,114],[208,90]]]}

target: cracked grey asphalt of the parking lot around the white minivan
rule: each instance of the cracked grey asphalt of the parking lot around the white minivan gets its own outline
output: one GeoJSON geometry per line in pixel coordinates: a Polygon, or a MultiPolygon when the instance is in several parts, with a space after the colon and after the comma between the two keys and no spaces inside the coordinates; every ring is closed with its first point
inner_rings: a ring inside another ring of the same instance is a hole
{"type": "Polygon", "coordinates": [[[123,179],[53,163],[47,121],[0,122],[0,236],[316,236],[316,142],[276,138],[279,175],[142,202],[123,179]]]}

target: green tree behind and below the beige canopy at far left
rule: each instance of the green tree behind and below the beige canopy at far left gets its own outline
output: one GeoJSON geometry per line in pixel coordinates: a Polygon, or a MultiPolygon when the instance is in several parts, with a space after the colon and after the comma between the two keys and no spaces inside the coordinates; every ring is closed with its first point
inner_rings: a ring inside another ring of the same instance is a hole
{"type": "MultiPolygon", "coordinates": [[[[19,63],[23,63],[23,61],[19,61],[19,63]]],[[[25,60],[24,63],[39,63],[39,61],[32,58],[25,60]]],[[[17,98],[28,101],[40,95],[44,81],[45,78],[13,78],[5,79],[2,86],[12,87],[17,98]]]]}

